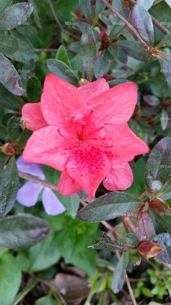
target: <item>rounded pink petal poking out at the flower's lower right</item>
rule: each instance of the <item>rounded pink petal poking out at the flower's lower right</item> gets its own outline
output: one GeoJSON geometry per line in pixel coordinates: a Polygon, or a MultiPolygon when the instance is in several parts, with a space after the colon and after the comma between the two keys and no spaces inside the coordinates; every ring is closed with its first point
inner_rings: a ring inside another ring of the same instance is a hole
{"type": "Polygon", "coordinates": [[[133,182],[133,173],[127,162],[113,164],[110,171],[103,180],[103,185],[110,191],[123,191],[129,188],[133,182]]]}

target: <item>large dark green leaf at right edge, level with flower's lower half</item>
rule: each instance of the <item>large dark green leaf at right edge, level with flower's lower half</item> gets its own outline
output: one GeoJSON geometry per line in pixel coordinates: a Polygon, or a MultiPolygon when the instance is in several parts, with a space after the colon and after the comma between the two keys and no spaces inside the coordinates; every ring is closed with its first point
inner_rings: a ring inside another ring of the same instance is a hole
{"type": "Polygon", "coordinates": [[[171,137],[165,137],[160,140],[152,149],[150,156],[148,157],[146,169],[145,169],[145,183],[147,190],[150,191],[148,196],[154,197],[157,194],[163,195],[162,189],[159,192],[155,192],[152,188],[152,183],[158,181],[163,188],[166,188],[169,183],[168,178],[171,173],[171,137]],[[151,193],[151,191],[153,191],[151,193]]]}

